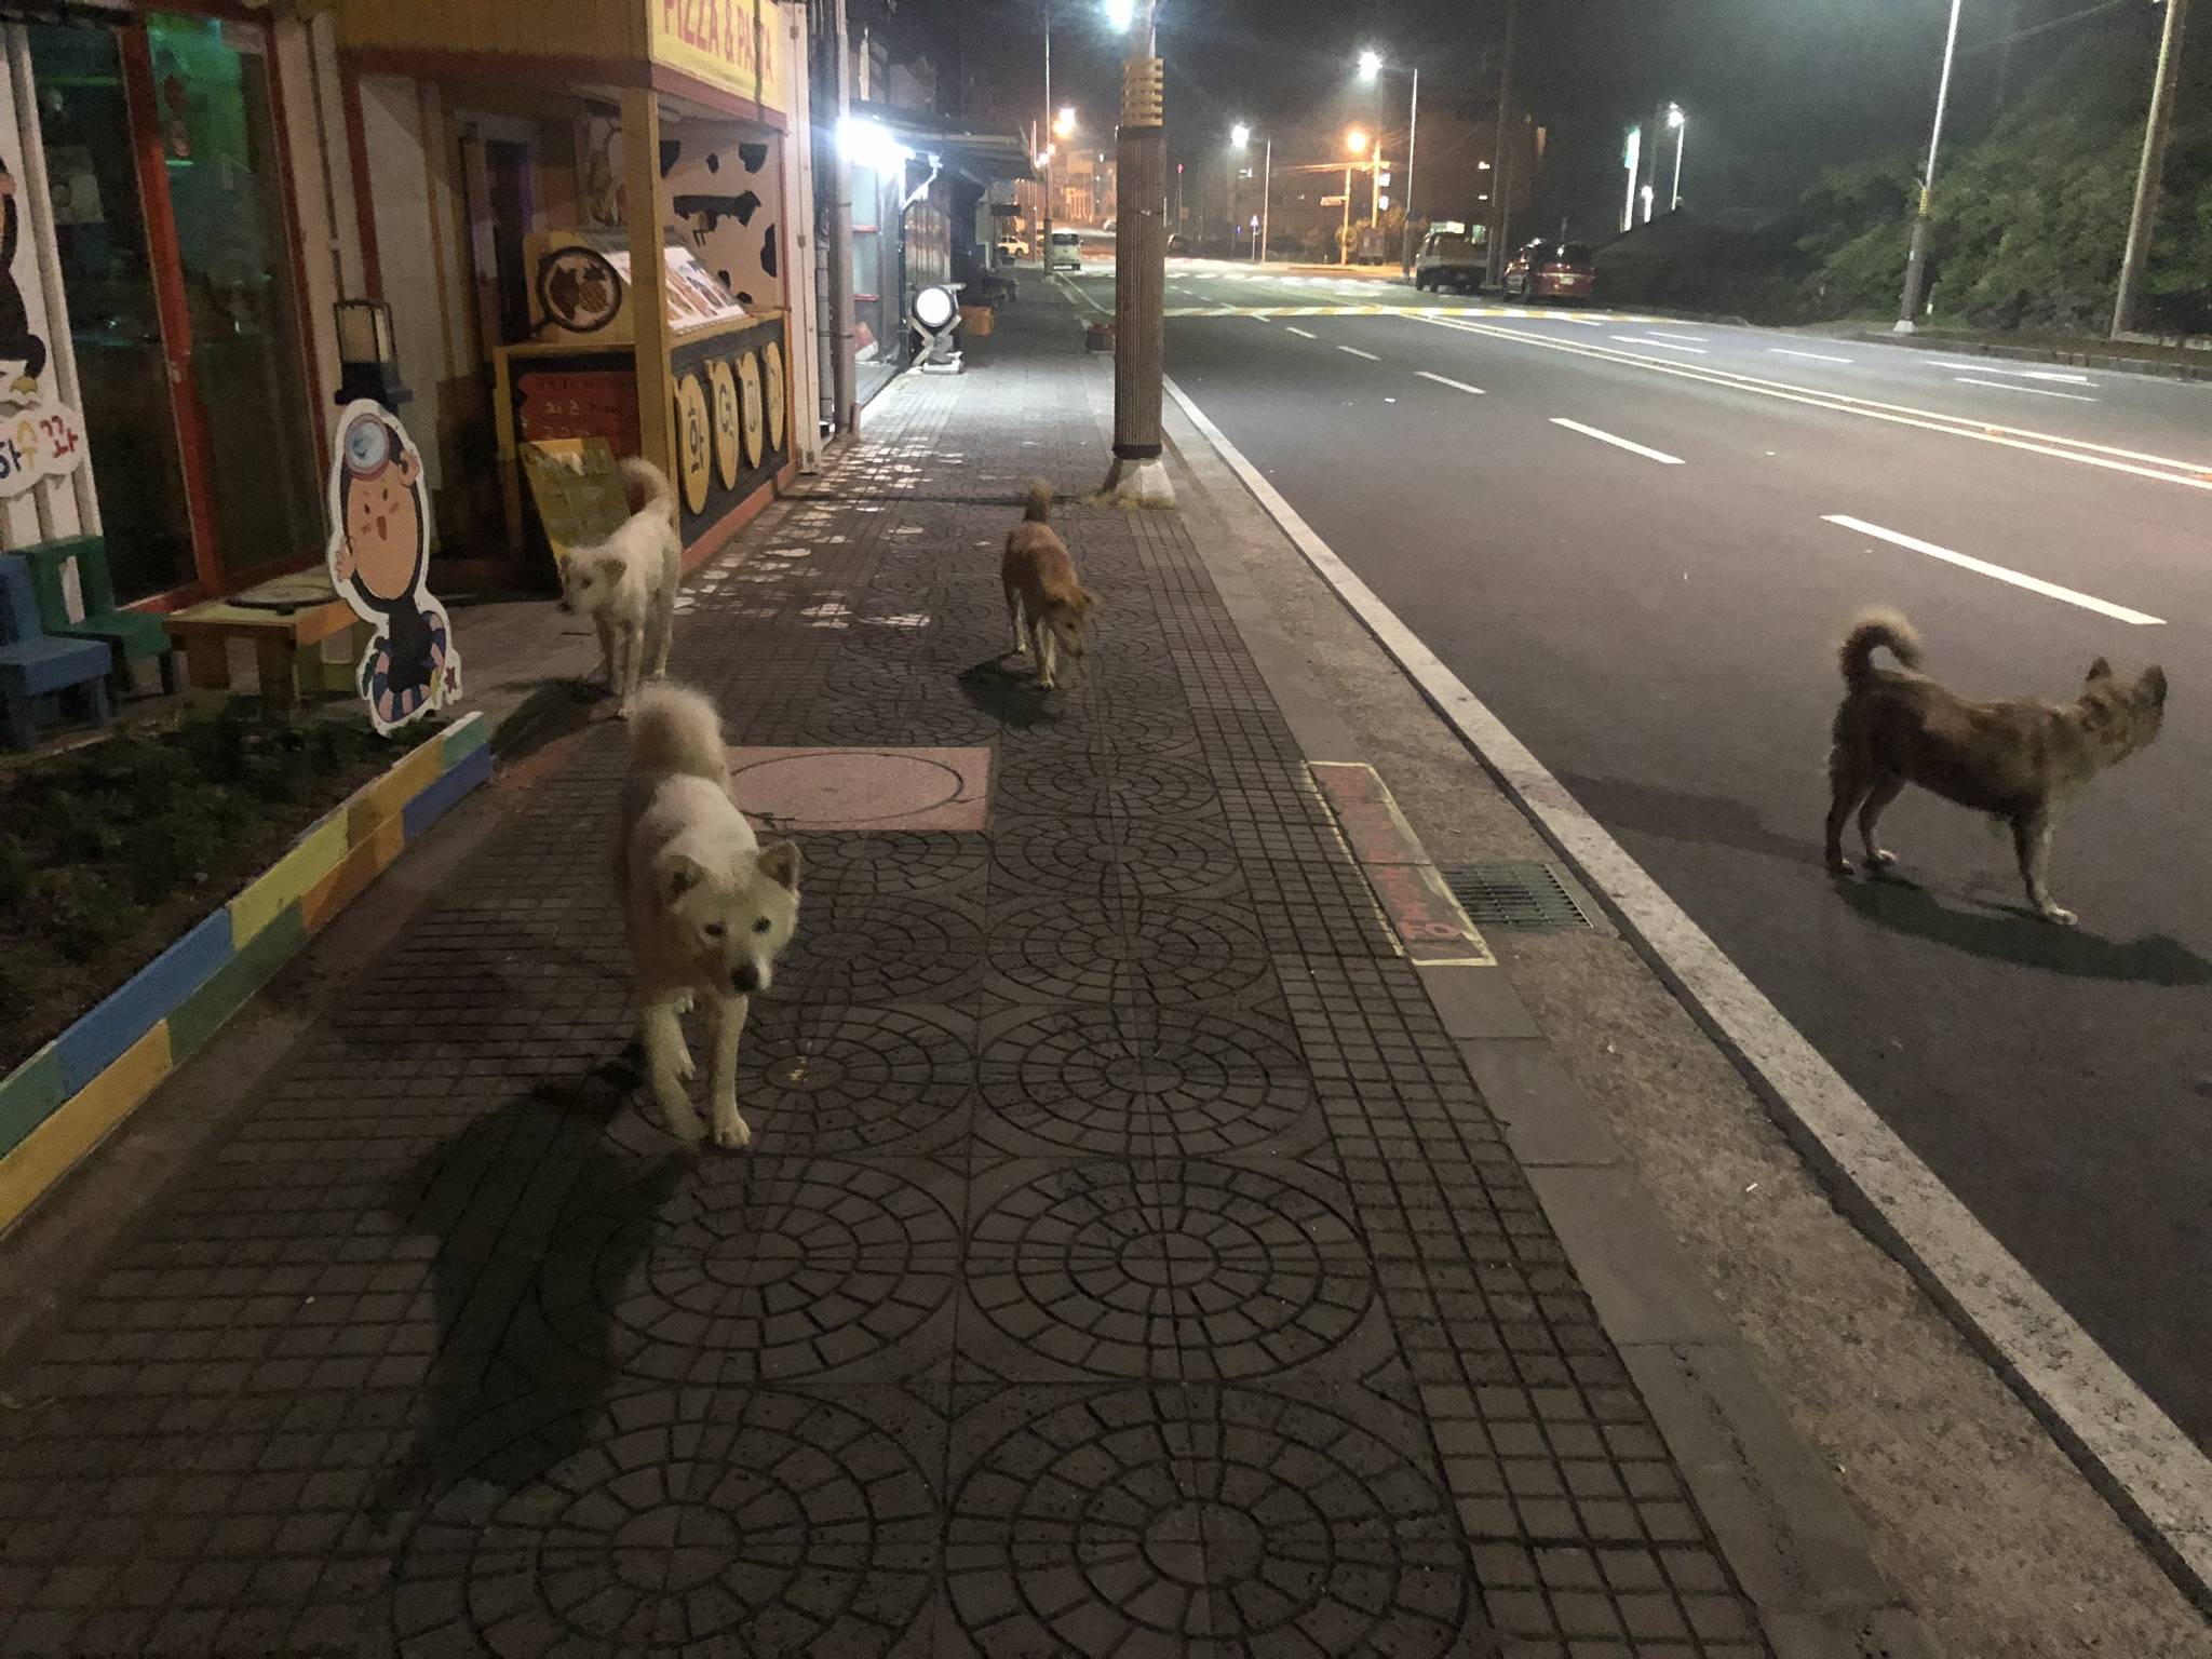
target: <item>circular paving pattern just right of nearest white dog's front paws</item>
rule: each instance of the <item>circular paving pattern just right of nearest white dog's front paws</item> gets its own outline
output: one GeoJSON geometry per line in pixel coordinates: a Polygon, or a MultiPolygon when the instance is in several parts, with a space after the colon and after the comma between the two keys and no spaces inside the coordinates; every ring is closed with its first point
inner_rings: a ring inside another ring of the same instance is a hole
{"type": "Polygon", "coordinates": [[[741,1102],[754,1155],[867,1152],[927,1137],[967,1104],[973,1053],[936,1020],[907,1009],[776,1013],[745,1031],[741,1102]]]}

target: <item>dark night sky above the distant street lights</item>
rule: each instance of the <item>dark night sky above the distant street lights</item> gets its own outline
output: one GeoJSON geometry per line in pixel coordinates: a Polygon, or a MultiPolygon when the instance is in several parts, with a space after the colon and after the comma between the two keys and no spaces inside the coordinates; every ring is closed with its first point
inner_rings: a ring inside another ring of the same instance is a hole
{"type": "MultiPolygon", "coordinates": [[[[1221,157],[1228,126],[1243,117],[1285,135],[1279,164],[1321,159],[1296,150],[1376,108],[1378,93],[1352,77],[1363,44],[1394,66],[1422,66],[1425,113],[1431,100],[1458,102],[1486,119],[1504,4],[1166,0],[1170,153],[1192,166],[1221,157]]],[[[2088,4],[1966,0],[1953,86],[1960,117],[1975,119],[1978,104],[1986,111],[1997,35],[2088,4]]],[[[1024,117],[1042,102],[1042,0],[927,0],[925,9],[951,31],[951,51],[969,55],[973,80],[1002,88],[1024,117]]],[[[1947,0],[1520,0],[1515,102],[1551,128],[1553,210],[1604,212],[1599,204],[1621,177],[1624,126],[1674,100],[1692,122],[1686,204],[1750,219],[1792,201],[1827,161],[1924,144],[1947,13],[1947,0]]],[[[1099,22],[1097,0],[1053,0],[1053,102],[1075,104],[1086,137],[1106,144],[1124,44],[1099,22]]],[[[2157,9],[2148,0],[2121,4],[2039,35],[2017,49],[2013,73],[2095,29],[2150,40],[2157,9]]],[[[1402,131],[1402,73],[1387,86],[1389,119],[1402,131]]]]}

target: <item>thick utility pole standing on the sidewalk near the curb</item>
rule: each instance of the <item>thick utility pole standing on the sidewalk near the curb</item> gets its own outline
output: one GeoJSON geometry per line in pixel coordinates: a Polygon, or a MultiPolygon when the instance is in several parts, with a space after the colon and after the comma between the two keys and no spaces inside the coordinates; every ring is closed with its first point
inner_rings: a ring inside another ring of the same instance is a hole
{"type": "Polygon", "coordinates": [[[1159,0],[1121,66],[1119,192],[1115,201],[1113,467],[1117,507],[1175,507],[1161,460],[1159,405],[1168,347],[1168,97],[1159,64],[1159,0]]]}

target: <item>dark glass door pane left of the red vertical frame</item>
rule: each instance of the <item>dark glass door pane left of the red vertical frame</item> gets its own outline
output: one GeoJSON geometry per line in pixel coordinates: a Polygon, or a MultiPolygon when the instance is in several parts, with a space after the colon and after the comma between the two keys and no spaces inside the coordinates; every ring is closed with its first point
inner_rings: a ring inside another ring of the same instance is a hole
{"type": "Polygon", "coordinates": [[[27,33],[108,566],[122,599],[144,599],[195,568],[122,53],[106,29],[27,33]]]}

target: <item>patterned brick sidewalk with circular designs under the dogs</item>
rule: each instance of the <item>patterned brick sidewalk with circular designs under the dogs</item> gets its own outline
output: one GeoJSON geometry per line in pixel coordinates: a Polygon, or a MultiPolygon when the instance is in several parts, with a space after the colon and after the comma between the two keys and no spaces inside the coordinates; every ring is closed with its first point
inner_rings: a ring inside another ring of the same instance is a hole
{"type": "MultiPolygon", "coordinates": [[[[0,1650],[1765,1652],[1057,307],[697,584],[741,745],[991,748],[805,834],[750,1155],[628,1093],[593,726],[0,1387],[0,1650]]],[[[374,902],[374,894],[372,900],[374,902]]]]}

